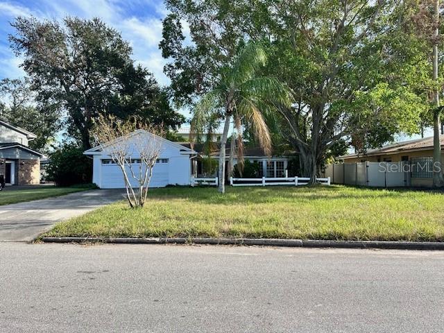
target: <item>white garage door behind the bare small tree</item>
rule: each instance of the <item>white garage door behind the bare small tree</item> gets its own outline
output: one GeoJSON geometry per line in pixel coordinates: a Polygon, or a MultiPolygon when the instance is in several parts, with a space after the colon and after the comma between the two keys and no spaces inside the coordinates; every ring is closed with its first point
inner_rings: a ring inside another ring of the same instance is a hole
{"type": "MultiPolygon", "coordinates": [[[[150,187],[165,187],[169,182],[169,159],[161,158],[157,160],[153,169],[153,177],[151,177],[150,187]]],[[[125,187],[123,182],[123,174],[119,166],[114,164],[112,160],[102,160],[102,172],[101,172],[101,188],[103,189],[120,189],[125,187]]],[[[139,173],[139,164],[133,164],[133,171],[137,176],[139,173]]],[[[137,185],[137,182],[131,176],[128,169],[128,178],[133,186],[137,185]]]]}

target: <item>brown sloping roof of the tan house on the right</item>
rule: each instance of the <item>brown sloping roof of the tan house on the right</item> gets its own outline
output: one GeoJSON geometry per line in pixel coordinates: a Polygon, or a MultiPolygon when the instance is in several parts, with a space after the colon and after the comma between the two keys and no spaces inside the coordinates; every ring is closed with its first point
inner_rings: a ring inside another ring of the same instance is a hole
{"type": "MultiPolygon", "coordinates": [[[[444,148],[444,135],[441,135],[441,149],[444,148]]],[[[433,149],[433,137],[424,137],[422,139],[414,139],[396,144],[388,144],[382,148],[372,149],[366,153],[353,153],[349,155],[339,156],[339,159],[348,159],[362,156],[375,155],[393,155],[396,153],[403,153],[408,151],[429,151],[433,149]]]]}

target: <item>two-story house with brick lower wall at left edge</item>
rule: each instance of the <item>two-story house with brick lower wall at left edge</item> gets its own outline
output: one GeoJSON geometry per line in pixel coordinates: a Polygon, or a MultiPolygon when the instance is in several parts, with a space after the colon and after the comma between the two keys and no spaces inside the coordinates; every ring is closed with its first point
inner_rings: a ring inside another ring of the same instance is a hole
{"type": "Polygon", "coordinates": [[[28,147],[36,135],[0,120],[0,175],[6,185],[40,184],[40,158],[28,147]]]}

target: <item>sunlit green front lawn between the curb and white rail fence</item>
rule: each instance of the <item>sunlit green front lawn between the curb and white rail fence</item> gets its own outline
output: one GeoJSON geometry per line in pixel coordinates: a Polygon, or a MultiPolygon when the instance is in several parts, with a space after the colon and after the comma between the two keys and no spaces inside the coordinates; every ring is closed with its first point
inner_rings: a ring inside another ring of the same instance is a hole
{"type": "Polygon", "coordinates": [[[166,188],[143,209],[124,202],[45,236],[257,237],[444,241],[444,195],[354,187],[166,188]]]}

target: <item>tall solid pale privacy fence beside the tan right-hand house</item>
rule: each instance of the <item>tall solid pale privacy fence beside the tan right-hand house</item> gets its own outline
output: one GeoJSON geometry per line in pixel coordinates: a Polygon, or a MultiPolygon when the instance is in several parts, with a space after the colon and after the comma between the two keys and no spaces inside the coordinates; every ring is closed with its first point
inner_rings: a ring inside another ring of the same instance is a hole
{"type": "Polygon", "coordinates": [[[358,162],[328,164],[324,176],[334,184],[370,187],[405,187],[410,185],[409,162],[358,162]],[[408,169],[408,168],[407,168],[408,169]]]}

